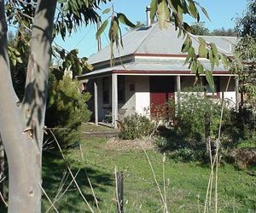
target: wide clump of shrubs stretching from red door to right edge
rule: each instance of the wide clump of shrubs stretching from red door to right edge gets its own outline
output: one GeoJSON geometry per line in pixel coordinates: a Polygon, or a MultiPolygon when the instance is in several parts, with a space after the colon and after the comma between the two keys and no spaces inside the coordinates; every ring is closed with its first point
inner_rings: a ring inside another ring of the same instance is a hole
{"type": "MultiPolygon", "coordinates": [[[[162,152],[170,151],[170,158],[176,160],[207,160],[205,138],[205,115],[210,120],[210,136],[214,153],[218,137],[221,108],[223,101],[212,99],[200,88],[188,89],[178,96],[179,106],[172,128],[159,128],[160,137],[156,143],[162,152]],[[190,155],[193,153],[193,155],[190,155]]],[[[252,107],[241,107],[239,112],[224,101],[224,113],[220,135],[220,153],[224,156],[230,149],[239,146],[243,141],[252,141],[255,130],[255,115],[252,107]]]]}

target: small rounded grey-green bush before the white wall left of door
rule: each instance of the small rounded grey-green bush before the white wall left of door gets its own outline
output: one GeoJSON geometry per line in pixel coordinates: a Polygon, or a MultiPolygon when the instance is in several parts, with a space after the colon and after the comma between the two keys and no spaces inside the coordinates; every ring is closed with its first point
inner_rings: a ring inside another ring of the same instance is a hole
{"type": "Polygon", "coordinates": [[[151,136],[155,133],[154,122],[151,122],[148,117],[140,114],[132,114],[125,117],[121,124],[121,132],[119,137],[125,140],[134,140],[143,136],[151,136]]]}

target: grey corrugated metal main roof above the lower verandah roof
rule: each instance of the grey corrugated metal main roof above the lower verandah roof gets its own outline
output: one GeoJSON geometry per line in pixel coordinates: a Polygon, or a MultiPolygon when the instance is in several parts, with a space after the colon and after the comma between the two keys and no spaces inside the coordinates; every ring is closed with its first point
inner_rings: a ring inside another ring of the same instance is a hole
{"type": "MultiPolygon", "coordinates": [[[[181,52],[183,37],[177,37],[177,34],[178,32],[175,31],[175,27],[172,24],[167,29],[160,29],[157,23],[154,23],[151,27],[141,27],[128,32],[123,37],[124,49],[115,47],[113,54],[116,58],[132,54],[183,55],[181,52]]],[[[215,43],[218,51],[227,55],[231,55],[232,46],[237,41],[236,37],[201,37],[209,43],[215,43]]],[[[195,39],[193,39],[193,45],[197,49],[198,43],[195,39]]],[[[108,46],[90,56],[88,62],[96,64],[109,59],[110,47],[108,46]]]]}

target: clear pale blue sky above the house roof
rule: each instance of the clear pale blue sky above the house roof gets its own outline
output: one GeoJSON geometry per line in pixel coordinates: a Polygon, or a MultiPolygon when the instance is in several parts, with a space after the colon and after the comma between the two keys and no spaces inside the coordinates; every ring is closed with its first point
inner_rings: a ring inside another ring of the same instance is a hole
{"type": "MultiPolygon", "coordinates": [[[[236,18],[241,17],[247,6],[247,0],[197,0],[210,16],[211,21],[207,20],[203,14],[201,14],[201,21],[205,22],[205,26],[210,30],[233,28],[236,25],[236,18]]],[[[102,4],[102,11],[111,7],[113,3],[114,10],[124,13],[133,23],[141,21],[146,23],[146,6],[150,4],[150,0],[113,0],[107,5],[102,4]]],[[[102,15],[102,11],[98,13],[102,15]]],[[[104,20],[106,17],[102,17],[104,20]]],[[[190,24],[195,22],[190,18],[186,18],[186,21],[190,24]]],[[[125,34],[125,27],[123,28],[123,34],[125,34]]],[[[89,57],[97,52],[96,43],[96,26],[89,25],[84,26],[79,32],[73,33],[70,37],[63,42],[61,37],[58,37],[55,42],[64,49],[79,49],[80,57],[89,57]]],[[[108,32],[102,33],[102,48],[108,45],[108,32]]]]}

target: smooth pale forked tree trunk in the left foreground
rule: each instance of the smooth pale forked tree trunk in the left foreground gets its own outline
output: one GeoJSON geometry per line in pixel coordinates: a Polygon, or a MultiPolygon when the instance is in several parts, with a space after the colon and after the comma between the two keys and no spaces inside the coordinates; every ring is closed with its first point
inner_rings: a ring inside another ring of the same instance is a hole
{"type": "Polygon", "coordinates": [[[41,158],[56,0],[39,0],[21,108],[10,75],[7,25],[0,0],[0,132],[9,164],[9,212],[41,212],[41,158]]]}

